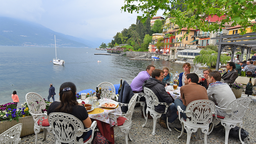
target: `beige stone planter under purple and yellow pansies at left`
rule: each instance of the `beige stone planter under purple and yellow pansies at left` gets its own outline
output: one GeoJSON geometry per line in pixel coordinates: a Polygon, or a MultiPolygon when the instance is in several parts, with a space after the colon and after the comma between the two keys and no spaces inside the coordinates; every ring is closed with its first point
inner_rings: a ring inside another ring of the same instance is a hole
{"type": "Polygon", "coordinates": [[[32,116],[21,117],[21,118],[19,118],[19,122],[17,122],[16,120],[12,120],[11,122],[10,122],[10,120],[3,121],[3,123],[0,122],[0,133],[3,133],[4,131],[8,130],[12,126],[19,124],[19,123],[22,123],[22,130],[21,130],[20,137],[35,134],[34,120],[33,120],[32,116]]]}

